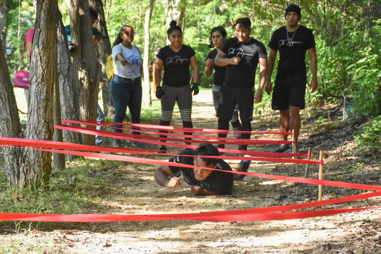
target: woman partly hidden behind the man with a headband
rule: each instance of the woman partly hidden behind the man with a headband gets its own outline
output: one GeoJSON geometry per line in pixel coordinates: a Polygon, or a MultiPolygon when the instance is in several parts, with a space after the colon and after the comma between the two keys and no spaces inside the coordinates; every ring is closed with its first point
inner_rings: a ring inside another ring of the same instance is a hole
{"type": "MultiPolygon", "coordinates": [[[[216,110],[216,113],[218,111],[218,104],[219,100],[221,98],[221,86],[224,84],[225,75],[226,75],[226,66],[218,66],[215,64],[215,58],[217,56],[218,51],[221,49],[222,45],[226,41],[226,30],[222,26],[214,27],[210,32],[210,44],[208,45],[209,48],[216,47],[214,50],[210,51],[207,60],[206,65],[207,68],[205,69],[205,75],[209,77],[213,69],[215,69],[215,73],[213,75],[213,85],[212,85],[212,95],[213,95],[213,104],[216,110]]],[[[242,131],[242,126],[238,118],[238,104],[235,105],[233,117],[230,120],[233,126],[234,131],[242,131]]],[[[241,138],[240,133],[234,133],[234,136],[237,139],[241,138]]],[[[240,150],[241,145],[238,145],[238,149],[240,150]]]]}

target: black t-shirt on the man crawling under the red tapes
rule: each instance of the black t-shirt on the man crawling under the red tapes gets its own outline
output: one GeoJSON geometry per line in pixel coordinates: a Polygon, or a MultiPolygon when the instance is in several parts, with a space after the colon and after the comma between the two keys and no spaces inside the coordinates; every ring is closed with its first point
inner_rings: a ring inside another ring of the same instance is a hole
{"type": "MultiPolygon", "coordinates": [[[[193,166],[194,157],[181,156],[181,155],[195,155],[196,151],[186,150],[179,153],[179,155],[171,158],[169,161],[176,163],[183,163],[193,166]]],[[[226,194],[233,187],[233,173],[213,170],[210,175],[204,180],[196,180],[194,177],[193,168],[169,166],[173,174],[182,171],[184,181],[189,185],[199,185],[205,190],[210,190],[219,194],[226,194]]],[[[216,169],[232,171],[230,166],[222,159],[218,159],[216,169]]]]}

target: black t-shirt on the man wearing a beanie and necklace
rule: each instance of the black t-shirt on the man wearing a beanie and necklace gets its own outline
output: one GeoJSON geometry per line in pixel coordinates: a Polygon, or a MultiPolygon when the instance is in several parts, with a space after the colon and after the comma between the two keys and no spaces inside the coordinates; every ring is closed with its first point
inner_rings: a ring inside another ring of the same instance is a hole
{"type": "Polygon", "coordinates": [[[287,75],[306,75],[306,51],[316,45],[311,29],[300,25],[294,32],[280,27],[272,34],[269,47],[279,50],[278,72],[287,75]]]}

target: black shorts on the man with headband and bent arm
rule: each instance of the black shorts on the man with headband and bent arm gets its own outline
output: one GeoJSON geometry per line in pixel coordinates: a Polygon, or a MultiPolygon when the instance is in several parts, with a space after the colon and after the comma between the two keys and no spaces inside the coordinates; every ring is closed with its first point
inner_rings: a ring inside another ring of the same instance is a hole
{"type": "Polygon", "coordinates": [[[236,104],[238,104],[241,121],[253,120],[253,89],[243,87],[222,87],[217,117],[231,120],[236,104]]]}

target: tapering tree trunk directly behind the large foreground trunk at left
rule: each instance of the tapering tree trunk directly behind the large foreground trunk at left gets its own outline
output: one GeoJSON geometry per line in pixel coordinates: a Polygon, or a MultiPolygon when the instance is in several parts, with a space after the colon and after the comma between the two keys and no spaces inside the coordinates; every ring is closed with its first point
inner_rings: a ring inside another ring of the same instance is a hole
{"type": "MultiPolygon", "coordinates": [[[[61,101],[61,118],[79,121],[78,87],[76,87],[73,65],[67,47],[67,37],[65,27],[62,22],[61,13],[57,12],[57,61],[58,61],[58,83],[59,99],[61,101]]],[[[79,126],[68,124],[72,126],[79,126]]],[[[82,144],[82,135],[74,131],[62,131],[62,140],[67,143],[82,144]]],[[[75,155],[69,155],[69,160],[76,158],[75,155]]]]}

